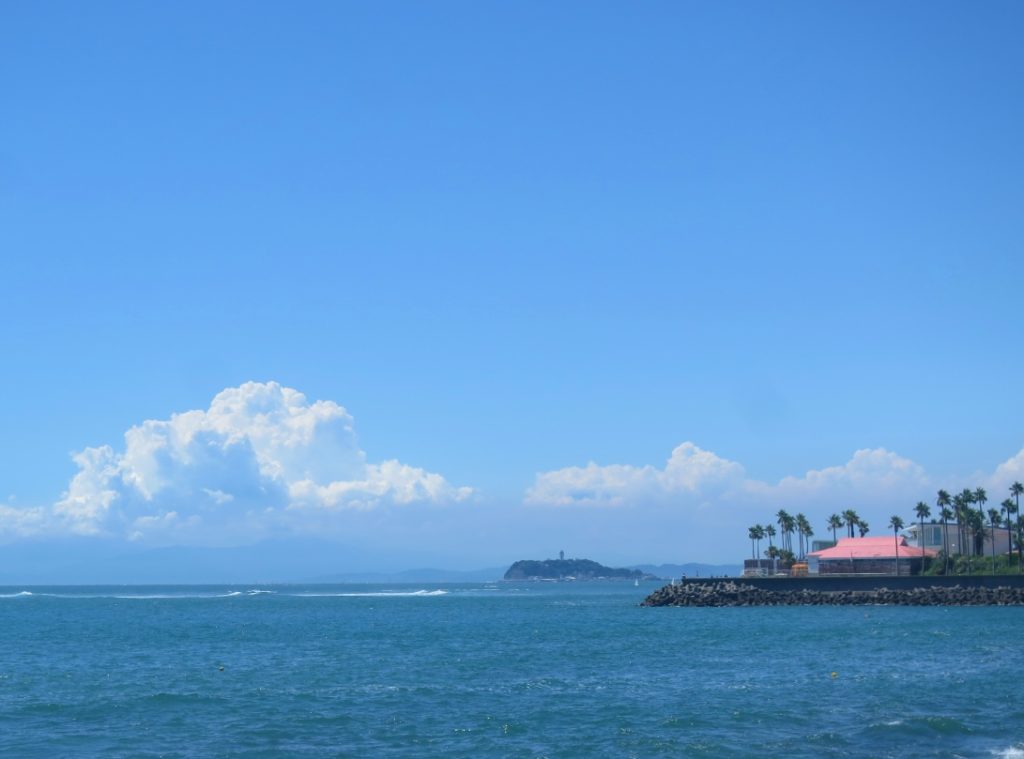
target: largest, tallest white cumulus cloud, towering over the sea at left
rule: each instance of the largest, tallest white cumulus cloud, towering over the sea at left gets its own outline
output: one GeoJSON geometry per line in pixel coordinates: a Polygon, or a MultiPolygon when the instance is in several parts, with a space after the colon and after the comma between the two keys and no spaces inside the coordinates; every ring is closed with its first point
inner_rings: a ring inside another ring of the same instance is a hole
{"type": "Polygon", "coordinates": [[[202,530],[253,534],[301,528],[303,511],[442,503],[472,494],[398,461],[369,463],[344,408],[310,403],[276,382],[227,388],[205,411],[132,427],[121,451],[87,448],[73,458],[79,471],[61,498],[38,513],[8,508],[12,514],[0,513],[7,532],[59,528],[133,540],[202,530]]]}

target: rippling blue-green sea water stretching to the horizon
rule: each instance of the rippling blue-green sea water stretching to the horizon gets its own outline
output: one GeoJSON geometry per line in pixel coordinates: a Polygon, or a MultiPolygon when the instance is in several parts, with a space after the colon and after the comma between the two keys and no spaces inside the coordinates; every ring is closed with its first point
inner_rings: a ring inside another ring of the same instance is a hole
{"type": "Polygon", "coordinates": [[[1024,608],[0,589],[0,756],[1024,757],[1024,608]]]}

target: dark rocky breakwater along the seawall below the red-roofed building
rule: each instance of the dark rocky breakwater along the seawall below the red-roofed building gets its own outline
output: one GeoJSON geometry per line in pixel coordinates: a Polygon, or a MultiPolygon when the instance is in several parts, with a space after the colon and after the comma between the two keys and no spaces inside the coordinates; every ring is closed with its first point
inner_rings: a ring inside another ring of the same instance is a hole
{"type": "Polygon", "coordinates": [[[641,606],[1010,606],[1024,605],[1024,588],[911,588],[907,590],[765,590],[752,585],[666,585],[641,606]]]}

